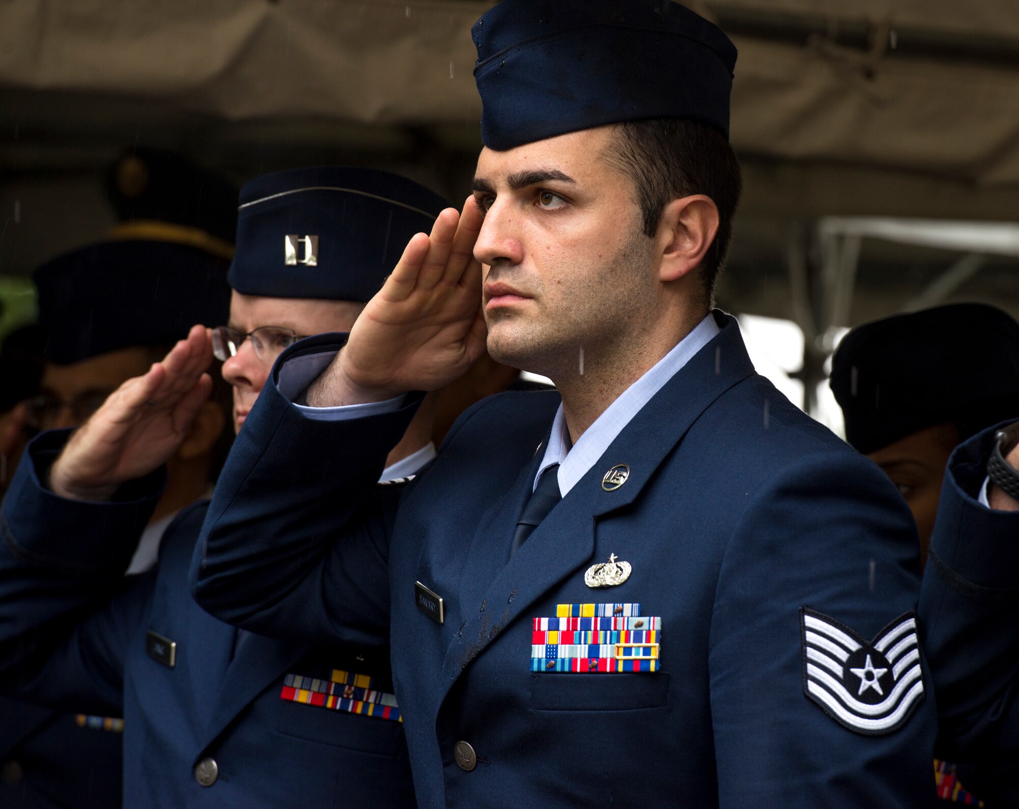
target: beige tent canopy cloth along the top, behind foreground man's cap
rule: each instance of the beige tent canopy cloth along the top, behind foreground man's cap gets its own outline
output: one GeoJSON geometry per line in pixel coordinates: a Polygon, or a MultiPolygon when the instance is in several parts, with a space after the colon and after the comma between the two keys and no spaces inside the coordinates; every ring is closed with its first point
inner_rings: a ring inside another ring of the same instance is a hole
{"type": "MultiPolygon", "coordinates": [[[[468,127],[470,138],[480,115],[470,26],[489,5],[7,0],[0,86],[158,100],[231,121],[468,127]]],[[[1019,183],[1014,0],[693,5],[740,49],[741,153],[1019,183]]]]}

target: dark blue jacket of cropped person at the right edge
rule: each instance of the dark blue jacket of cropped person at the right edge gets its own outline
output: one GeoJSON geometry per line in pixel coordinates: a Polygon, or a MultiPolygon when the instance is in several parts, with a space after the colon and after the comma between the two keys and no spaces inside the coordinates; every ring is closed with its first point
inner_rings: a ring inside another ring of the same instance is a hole
{"type": "Polygon", "coordinates": [[[938,755],[991,807],[1019,806],[1019,513],[978,501],[994,434],[949,461],[919,606],[938,755]]]}

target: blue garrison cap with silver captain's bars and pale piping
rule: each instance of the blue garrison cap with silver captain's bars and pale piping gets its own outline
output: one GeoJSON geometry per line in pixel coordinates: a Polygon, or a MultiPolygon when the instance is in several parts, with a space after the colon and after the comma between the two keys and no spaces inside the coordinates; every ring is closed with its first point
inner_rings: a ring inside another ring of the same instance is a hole
{"type": "Polygon", "coordinates": [[[257,177],[240,190],[230,286],[269,298],[369,301],[411,237],[431,230],[447,207],[424,185],[376,169],[257,177]]]}

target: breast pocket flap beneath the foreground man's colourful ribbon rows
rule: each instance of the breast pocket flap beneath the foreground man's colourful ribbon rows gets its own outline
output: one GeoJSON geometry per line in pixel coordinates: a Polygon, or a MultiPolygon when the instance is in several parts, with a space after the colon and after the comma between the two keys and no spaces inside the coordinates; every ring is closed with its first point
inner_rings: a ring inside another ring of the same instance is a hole
{"type": "Polygon", "coordinates": [[[542,711],[618,711],[662,708],[668,675],[532,673],[531,709],[542,711]]]}

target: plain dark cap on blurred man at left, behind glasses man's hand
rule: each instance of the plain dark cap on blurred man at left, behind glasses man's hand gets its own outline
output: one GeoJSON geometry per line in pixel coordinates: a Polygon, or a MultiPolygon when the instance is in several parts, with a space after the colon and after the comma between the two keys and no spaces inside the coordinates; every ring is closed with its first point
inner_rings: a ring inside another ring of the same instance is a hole
{"type": "Polygon", "coordinates": [[[46,357],[77,363],[136,345],[164,345],[229,314],[228,262],[167,241],[105,241],[35,272],[46,357]]]}

